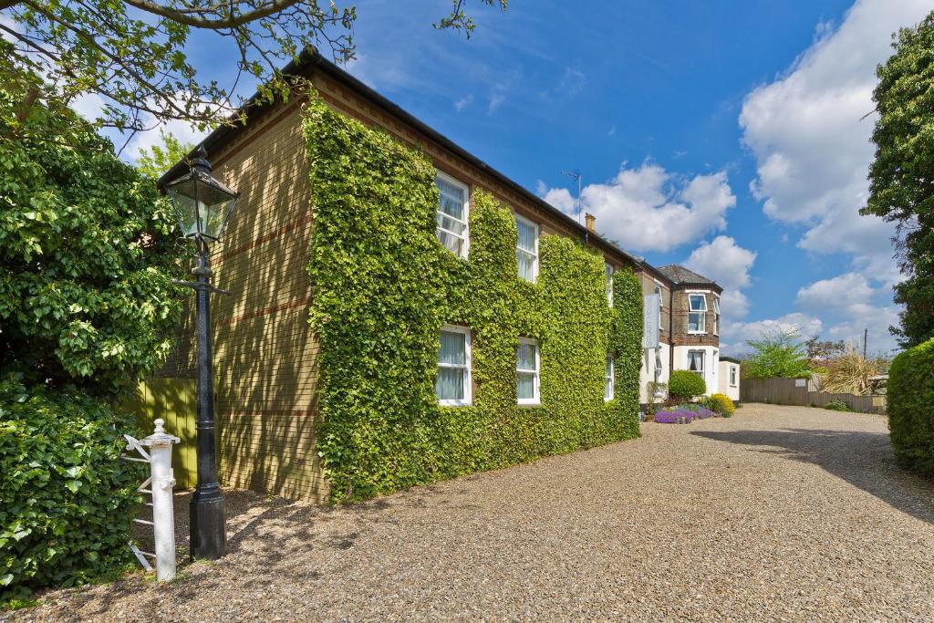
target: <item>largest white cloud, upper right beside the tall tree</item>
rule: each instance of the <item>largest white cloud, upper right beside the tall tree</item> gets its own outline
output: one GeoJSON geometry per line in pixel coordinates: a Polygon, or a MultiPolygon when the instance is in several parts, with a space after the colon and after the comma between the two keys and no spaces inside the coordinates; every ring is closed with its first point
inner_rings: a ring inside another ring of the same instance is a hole
{"type": "Polygon", "coordinates": [[[927,0],[859,0],[833,30],[818,25],[814,44],[781,78],[743,103],[743,142],[757,160],[751,188],[772,219],[803,223],[800,248],[854,257],[875,280],[895,277],[891,224],[858,214],[865,205],[876,119],[877,64],[891,34],[930,10],[927,0]]]}

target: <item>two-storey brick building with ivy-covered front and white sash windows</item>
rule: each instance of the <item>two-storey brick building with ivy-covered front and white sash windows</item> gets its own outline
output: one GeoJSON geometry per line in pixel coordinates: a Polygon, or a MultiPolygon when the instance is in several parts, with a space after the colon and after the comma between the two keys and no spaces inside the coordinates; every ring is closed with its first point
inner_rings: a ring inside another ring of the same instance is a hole
{"type": "MultiPolygon", "coordinates": [[[[223,483],[350,501],[638,436],[646,278],[672,280],[316,52],[287,72],[314,88],[203,142],[241,193],[211,259],[223,483]]],[[[193,349],[189,320],[160,376],[193,349]]]]}

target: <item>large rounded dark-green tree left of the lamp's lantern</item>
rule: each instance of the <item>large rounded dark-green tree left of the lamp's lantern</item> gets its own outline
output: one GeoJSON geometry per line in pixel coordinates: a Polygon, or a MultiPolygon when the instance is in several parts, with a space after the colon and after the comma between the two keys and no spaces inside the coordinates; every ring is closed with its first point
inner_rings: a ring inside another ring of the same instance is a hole
{"type": "Polygon", "coordinates": [[[113,398],[172,347],[175,222],[76,113],[36,100],[20,114],[0,87],[0,378],[113,398]]]}

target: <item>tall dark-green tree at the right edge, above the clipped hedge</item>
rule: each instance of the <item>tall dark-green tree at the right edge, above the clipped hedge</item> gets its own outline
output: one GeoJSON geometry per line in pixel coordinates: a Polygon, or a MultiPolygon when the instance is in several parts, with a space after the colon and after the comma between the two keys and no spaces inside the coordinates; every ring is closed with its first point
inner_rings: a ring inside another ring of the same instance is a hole
{"type": "Polygon", "coordinates": [[[895,53],[876,69],[879,120],[864,215],[898,223],[897,257],[905,280],[895,287],[904,304],[902,347],[934,337],[934,13],[894,37],[895,53]]]}

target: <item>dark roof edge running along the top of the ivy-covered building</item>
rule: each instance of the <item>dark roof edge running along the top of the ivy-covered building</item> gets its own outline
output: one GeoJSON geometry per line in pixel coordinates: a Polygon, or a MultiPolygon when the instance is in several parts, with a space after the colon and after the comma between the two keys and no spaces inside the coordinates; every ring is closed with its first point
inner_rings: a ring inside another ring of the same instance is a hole
{"type": "MultiPolygon", "coordinates": [[[[470,163],[477,169],[480,169],[488,176],[493,177],[510,190],[517,192],[517,194],[531,202],[531,204],[538,206],[554,218],[559,219],[573,232],[580,234],[580,236],[585,241],[594,244],[597,247],[601,247],[604,250],[610,250],[617,255],[623,256],[626,260],[638,268],[653,270],[654,267],[649,265],[647,262],[644,262],[644,260],[632,256],[630,253],[617,247],[616,244],[610,240],[603,238],[600,234],[588,231],[587,228],[577,222],[577,220],[569,217],[564,212],[561,212],[554,205],[549,204],[532,191],[529,191],[518,182],[494,169],[488,163],[483,162],[466,149],[461,148],[460,145],[450,140],[445,135],[441,135],[425,122],[418,120],[416,117],[403,110],[402,107],[389,101],[389,99],[385,96],[375,92],[373,89],[361,82],[361,80],[354,78],[345,70],[341,69],[336,64],[333,64],[331,61],[321,56],[318,50],[315,50],[312,47],[306,48],[299,55],[298,59],[286,65],[282,72],[286,76],[309,76],[316,70],[326,74],[330,78],[340,81],[351,91],[356,92],[357,94],[361,95],[361,97],[365,97],[367,100],[375,104],[375,106],[379,106],[389,112],[389,114],[400,118],[405,123],[414,127],[422,135],[426,135],[433,142],[453,152],[459,158],[463,159],[467,163],[470,163]]],[[[262,106],[257,105],[259,99],[260,93],[257,92],[252,97],[250,97],[248,102],[241,108],[241,110],[246,110],[248,120],[258,114],[258,112],[262,109],[262,106]]],[[[235,117],[236,115],[234,115],[232,119],[235,119],[235,117]]],[[[214,132],[212,132],[210,135],[207,135],[201,143],[195,146],[195,148],[191,150],[189,156],[191,157],[194,151],[199,147],[204,147],[208,153],[216,153],[224,145],[233,140],[233,137],[235,137],[243,130],[244,125],[240,123],[220,125],[214,130],[214,132]]],[[[187,172],[188,166],[185,164],[185,161],[179,161],[175,164],[175,166],[169,169],[163,175],[163,177],[159,178],[159,187],[163,188],[167,182],[187,172]]]]}

